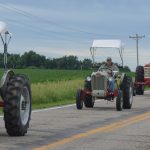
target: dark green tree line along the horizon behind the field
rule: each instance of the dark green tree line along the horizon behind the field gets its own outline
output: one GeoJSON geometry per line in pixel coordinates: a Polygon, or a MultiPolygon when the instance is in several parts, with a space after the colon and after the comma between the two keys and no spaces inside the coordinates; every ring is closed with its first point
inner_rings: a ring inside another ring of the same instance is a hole
{"type": "MultiPolygon", "coordinates": [[[[0,53],[0,68],[3,68],[3,54],[0,53]]],[[[77,56],[63,56],[60,58],[46,58],[43,55],[37,54],[34,51],[25,52],[23,55],[8,54],[8,68],[41,68],[41,69],[91,69],[93,67],[92,60],[85,58],[78,60],[77,56]]],[[[96,63],[99,67],[102,63],[96,63]]],[[[116,64],[120,67],[119,64],[116,64]]],[[[130,71],[128,66],[122,68],[125,71],[130,71]]]]}

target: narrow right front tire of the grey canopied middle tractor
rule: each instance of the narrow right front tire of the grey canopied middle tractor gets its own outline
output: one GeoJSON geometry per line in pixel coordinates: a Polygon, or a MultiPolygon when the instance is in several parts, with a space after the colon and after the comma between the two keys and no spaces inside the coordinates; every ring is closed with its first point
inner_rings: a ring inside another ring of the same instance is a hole
{"type": "Polygon", "coordinates": [[[123,108],[123,94],[122,91],[118,91],[118,96],[116,98],[116,110],[117,111],[122,111],[123,108]]]}

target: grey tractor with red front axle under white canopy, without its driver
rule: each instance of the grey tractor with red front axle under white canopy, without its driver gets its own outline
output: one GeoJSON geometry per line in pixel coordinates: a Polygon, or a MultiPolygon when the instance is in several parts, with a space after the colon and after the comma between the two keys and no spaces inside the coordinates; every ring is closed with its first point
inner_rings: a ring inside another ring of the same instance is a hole
{"type": "MultiPolygon", "coordinates": [[[[123,64],[122,50],[123,44],[120,40],[94,40],[90,52],[93,59],[98,48],[117,48],[123,64]]],[[[133,102],[133,82],[132,78],[125,73],[113,71],[108,68],[100,68],[87,76],[84,81],[84,88],[80,88],[76,93],[76,107],[93,108],[95,100],[104,99],[110,102],[116,100],[116,110],[131,109],[133,102]],[[110,91],[110,81],[114,80],[115,89],[110,91]]]]}

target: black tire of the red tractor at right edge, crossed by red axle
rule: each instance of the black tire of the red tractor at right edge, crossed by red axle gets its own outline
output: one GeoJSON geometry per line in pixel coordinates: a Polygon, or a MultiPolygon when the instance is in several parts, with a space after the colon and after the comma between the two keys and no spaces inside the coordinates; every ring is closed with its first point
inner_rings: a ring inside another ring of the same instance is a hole
{"type": "MultiPolygon", "coordinates": [[[[144,67],[143,66],[137,66],[135,81],[136,82],[144,82],[144,67]]],[[[136,94],[144,95],[144,86],[143,85],[139,85],[138,87],[136,87],[136,94]]]]}

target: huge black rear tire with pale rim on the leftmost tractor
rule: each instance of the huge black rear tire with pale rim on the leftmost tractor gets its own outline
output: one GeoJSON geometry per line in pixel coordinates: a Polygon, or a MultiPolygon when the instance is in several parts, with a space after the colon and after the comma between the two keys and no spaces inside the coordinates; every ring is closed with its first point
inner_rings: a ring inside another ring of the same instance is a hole
{"type": "Polygon", "coordinates": [[[31,116],[31,89],[25,75],[12,76],[4,95],[4,121],[10,136],[24,136],[31,116]]]}

